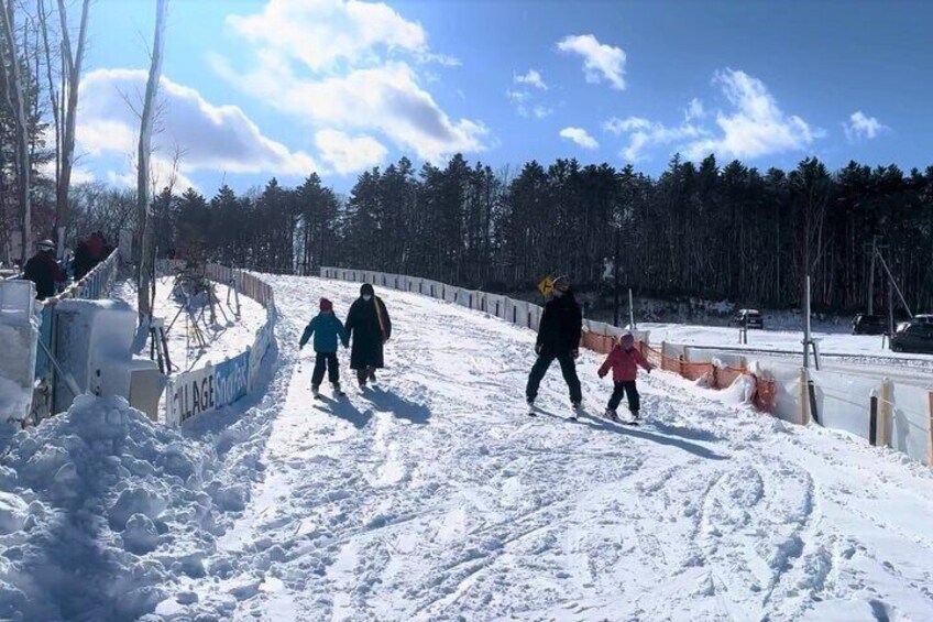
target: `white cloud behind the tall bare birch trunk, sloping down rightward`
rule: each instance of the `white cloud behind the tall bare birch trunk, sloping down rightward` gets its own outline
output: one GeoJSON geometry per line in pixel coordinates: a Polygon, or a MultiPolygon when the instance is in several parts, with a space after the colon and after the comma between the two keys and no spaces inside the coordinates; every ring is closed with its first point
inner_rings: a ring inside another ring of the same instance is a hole
{"type": "MultiPolygon", "coordinates": [[[[76,130],[80,151],[90,155],[135,153],[139,118],[123,97],[136,105],[136,94],[144,90],[146,78],[146,72],[132,69],[97,69],[85,76],[76,130]]],[[[166,77],[160,83],[158,98],[163,112],[153,135],[157,166],[168,165],[177,149],[183,176],[200,170],[281,175],[307,175],[319,170],[307,153],[292,152],[263,135],[235,106],[215,106],[195,89],[166,77]]]]}

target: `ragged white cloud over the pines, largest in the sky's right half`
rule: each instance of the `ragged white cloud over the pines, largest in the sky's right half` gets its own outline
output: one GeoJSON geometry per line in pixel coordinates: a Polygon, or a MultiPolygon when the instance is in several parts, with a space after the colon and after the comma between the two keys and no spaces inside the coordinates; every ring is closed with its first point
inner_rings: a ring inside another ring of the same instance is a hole
{"type": "Polygon", "coordinates": [[[745,72],[717,72],[713,84],[722,88],[732,110],[716,114],[718,137],[690,143],[684,154],[700,159],[710,153],[725,157],[758,157],[799,151],[825,135],[795,114],[784,114],[765,84],[745,72]]]}

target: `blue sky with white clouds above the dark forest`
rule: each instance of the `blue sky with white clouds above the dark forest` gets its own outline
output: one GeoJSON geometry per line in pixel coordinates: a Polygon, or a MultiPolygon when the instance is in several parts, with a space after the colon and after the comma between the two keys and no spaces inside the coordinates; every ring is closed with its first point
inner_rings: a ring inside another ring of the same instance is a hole
{"type": "MultiPolygon", "coordinates": [[[[132,175],[154,2],[97,0],[81,178],[132,175]]],[[[156,168],[211,194],[454,152],[933,164],[933,3],[171,0],[156,168]]]]}

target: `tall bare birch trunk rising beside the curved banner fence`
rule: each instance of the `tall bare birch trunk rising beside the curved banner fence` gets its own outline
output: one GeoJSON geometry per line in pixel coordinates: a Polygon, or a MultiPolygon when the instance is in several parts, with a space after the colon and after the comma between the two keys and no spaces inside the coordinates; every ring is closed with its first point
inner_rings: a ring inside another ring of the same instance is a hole
{"type": "Polygon", "coordinates": [[[152,299],[150,298],[150,283],[152,280],[152,264],[154,239],[152,231],[152,208],[150,206],[150,156],[152,153],[152,124],[155,109],[155,96],[158,90],[158,80],[162,77],[162,55],[165,46],[165,15],[168,9],[168,0],[156,0],[155,6],[155,37],[152,46],[152,64],[149,70],[145,96],[143,98],[143,111],[140,119],[140,149],[136,157],[136,209],[141,227],[141,252],[139,266],[139,313],[140,325],[149,324],[152,319],[152,299]]]}

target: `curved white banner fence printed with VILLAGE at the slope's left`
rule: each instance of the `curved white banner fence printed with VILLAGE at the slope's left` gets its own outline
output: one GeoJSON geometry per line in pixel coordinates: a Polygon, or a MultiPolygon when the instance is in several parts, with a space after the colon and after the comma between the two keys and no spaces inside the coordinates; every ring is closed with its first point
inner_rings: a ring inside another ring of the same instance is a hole
{"type": "Polygon", "coordinates": [[[165,393],[165,423],[171,426],[179,426],[201,413],[229,406],[252,392],[262,360],[275,338],[275,295],[268,283],[250,272],[218,264],[209,264],[206,274],[260,303],[266,309],[266,320],[256,331],[253,345],[244,352],[216,365],[207,363],[169,379],[165,393]]]}

